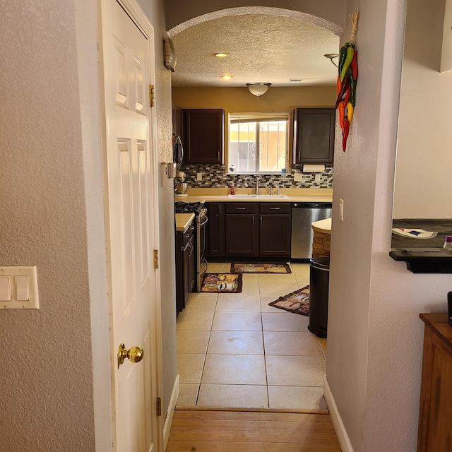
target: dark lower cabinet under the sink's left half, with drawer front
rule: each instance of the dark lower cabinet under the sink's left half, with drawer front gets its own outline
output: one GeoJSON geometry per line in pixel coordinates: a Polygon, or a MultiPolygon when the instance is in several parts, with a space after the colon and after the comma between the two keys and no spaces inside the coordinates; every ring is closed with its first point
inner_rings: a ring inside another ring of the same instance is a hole
{"type": "Polygon", "coordinates": [[[256,203],[226,203],[225,248],[227,256],[258,255],[256,203]]]}

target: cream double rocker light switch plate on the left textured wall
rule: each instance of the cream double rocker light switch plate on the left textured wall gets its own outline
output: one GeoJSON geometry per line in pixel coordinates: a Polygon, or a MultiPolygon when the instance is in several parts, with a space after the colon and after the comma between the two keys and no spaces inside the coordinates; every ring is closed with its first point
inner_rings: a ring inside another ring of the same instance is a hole
{"type": "Polygon", "coordinates": [[[36,266],[0,266],[0,309],[40,309],[36,266]]]}

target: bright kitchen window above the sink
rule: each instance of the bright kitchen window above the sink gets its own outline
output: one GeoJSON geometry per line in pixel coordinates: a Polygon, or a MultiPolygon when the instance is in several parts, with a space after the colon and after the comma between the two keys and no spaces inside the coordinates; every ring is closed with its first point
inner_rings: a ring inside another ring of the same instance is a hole
{"type": "Polygon", "coordinates": [[[230,113],[229,172],[287,171],[288,113],[230,113]]]}

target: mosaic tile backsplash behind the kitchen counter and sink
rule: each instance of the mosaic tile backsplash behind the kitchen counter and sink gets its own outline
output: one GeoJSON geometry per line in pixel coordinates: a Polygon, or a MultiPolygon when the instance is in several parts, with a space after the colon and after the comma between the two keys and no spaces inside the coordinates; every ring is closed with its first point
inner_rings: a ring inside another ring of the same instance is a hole
{"type": "MultiPolygon", "coordinates": [[[[180,169],[186,174],[186,180],[192,188],[222,188],[231,186],[243,187],[246,174],[226,174],[225,165],[184,165],[180,169]],[[196,180],[196,173],[203,173],[201,181],[196,180]]],[[[316,182],[314,173],[302,173],[302,165],[292,165],[287,174],[261,174],[259,185],[285,189],[332,189],[333,165],[325,165],[325,172],[319,173],[320,181],[316,182]],[[294,180],[294,174],[302,174],[301,181],[294,180]]]]}

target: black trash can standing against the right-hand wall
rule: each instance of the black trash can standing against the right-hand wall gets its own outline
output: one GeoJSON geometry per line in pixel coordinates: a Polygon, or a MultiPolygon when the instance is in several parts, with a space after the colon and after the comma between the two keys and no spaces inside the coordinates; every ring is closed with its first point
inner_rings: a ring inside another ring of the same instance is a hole
{"type": "Polygon", "coordinates": [[[311,258],[309,280],[309,326],[319,338],[326,338],[328,323],[328,286],[330,281],[330,259],[311,258]]]}

